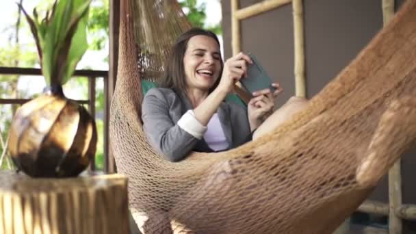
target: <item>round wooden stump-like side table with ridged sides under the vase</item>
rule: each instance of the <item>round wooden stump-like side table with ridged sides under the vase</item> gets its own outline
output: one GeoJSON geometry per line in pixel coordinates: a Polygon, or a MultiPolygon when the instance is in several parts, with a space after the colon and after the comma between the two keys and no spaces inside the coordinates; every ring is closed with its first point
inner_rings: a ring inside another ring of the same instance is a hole
{"type": "Polygon", "coordinates": [[[34,179],[0,170],[0,233],[129,233],[127,177],[34,179]]]}

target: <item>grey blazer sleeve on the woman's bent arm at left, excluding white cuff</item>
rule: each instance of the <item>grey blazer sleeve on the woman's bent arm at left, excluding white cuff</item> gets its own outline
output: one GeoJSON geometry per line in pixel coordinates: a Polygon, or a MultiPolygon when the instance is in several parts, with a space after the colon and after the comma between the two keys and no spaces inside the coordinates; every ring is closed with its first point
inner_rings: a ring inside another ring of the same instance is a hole
{"type": "Polygon", "coordinates": [[[164,93],[156,88],[149,90],[142,103],[143,130],[165,159],[180,161],[192,151],[198,139],[173,122],[169,111],[164,93]]]}

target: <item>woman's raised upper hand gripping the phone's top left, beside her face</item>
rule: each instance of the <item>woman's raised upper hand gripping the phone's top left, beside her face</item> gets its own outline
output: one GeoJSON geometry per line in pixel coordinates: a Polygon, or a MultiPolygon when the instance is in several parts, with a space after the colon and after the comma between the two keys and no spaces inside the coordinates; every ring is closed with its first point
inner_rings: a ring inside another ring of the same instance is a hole
{"type": "Polygon", "coordinates": [[[248,64],[252,64],[252,60],[242,52],[226,60],[218,88],[226,93],[232,92],[235,82],[247,75],[248,64]]]}

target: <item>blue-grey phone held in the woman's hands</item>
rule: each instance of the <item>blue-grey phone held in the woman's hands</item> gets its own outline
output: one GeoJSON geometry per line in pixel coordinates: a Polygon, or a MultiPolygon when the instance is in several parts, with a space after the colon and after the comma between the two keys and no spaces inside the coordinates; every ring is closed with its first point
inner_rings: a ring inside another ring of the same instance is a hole
{"type": "Polygon", "coordinates": [[[248,64],[247,77],[243,77],[239,80],[242,83],[242,86],[248,90],[250,94],[266,88],[270,88],[270,90],[274,92],[276,88],[272,86],[272,79],[270,79],[264,68],[259,64],[259,60],[252,54],[249,54],[249,56],[253,63],[248,64]]]}

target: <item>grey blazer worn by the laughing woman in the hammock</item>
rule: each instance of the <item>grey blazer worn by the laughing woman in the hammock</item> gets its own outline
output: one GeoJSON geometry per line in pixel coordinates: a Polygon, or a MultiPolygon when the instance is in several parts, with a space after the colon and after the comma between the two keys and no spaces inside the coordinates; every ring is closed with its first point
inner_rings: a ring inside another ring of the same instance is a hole
{"type": "MultiPolygon", "coordinates": [[[[204,139],[194,138],[177,125],[188,109],[193,108],[187,96],[169,88],[152,88],[144,96],[144,132],[153,147],[169,161],[180,161],[190,151],[213,152],[204,139]]],[[[217,113],[229,148],[251,140],[246,108],[232,101],[223,101],[217,113]]]]}

